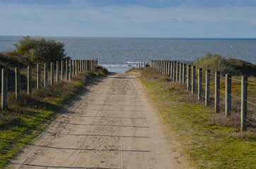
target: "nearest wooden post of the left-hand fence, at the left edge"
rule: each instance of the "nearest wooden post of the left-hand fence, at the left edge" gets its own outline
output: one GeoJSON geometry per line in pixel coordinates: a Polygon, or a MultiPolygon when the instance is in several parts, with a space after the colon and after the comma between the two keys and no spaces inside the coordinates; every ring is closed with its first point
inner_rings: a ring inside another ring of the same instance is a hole
{"type": "Polygon", "coordinates": [[[1,109],[7,108],[7,92],[8,92],[8,72],[6,68],[2,69],[2,85],[1,85],[1,109]]]}

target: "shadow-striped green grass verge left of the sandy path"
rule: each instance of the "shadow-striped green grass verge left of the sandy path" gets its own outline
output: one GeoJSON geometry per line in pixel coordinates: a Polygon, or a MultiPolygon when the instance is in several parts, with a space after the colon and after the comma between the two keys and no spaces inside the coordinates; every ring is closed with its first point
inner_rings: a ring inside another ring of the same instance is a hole
{"type": "MultiPolygon", "coordinates": [[[[7,110],[0,111],[0,168],[33,142],[57,117],[59,108],[81,92],[90,78],[106,73],[104,68],[95,70],[79,73],[71,81],[35,90],[30,96],[23,92],[21,101],[13,101],[7,110]]],[[[10,101],[13,99],[11,97],[10,101]]]]}

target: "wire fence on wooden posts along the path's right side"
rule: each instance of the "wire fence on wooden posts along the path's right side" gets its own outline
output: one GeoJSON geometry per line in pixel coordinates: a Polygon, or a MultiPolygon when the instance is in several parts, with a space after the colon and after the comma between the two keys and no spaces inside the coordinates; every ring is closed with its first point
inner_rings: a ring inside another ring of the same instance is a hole
{"type": "Polygon", "coordinates": [[[239,117],[241,130],[247,130],[248,123],[250,123],[250,127],[255,128],[255,82],[248,80],[246,76],[231,77],[229,74],[223,76],[219,72],[214,74],[209,71],[202,71],[202,69],[195,68],[191,63],[187,61],[158,60],[151,61],[150,66],[164,75],[168,75],[173,82],[186,84],[187,90],[192,90],[192,93],[197,94],[200,99],[215,104],[215,108],[218,109],[215,110],[216,113],[219,113],[219,108],[223,108],[226,117],[231,115],[239,117]],[[209,84],[206,84],[207,78],[209,84]],[[213,99],[210,99],[210,95],[213,94],[213,99]]]}

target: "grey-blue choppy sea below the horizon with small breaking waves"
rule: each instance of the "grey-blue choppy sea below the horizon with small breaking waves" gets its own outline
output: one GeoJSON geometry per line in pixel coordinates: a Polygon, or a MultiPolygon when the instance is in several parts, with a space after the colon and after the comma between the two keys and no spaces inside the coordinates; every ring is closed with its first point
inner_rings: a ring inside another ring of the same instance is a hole
{"type": "MultiPolygon", "coordinates": [[[[42,38],[42,37],[32,37],[42,38]]],[[[65,44],[72,59],[98,58],[107,70],[124,73],[151,60],[196,61],[207,52],[256,64],[256,38],[44,37],[65,44]]],[[[12,51],[21,36],[0,36],[0,51],[12,51]]]]}

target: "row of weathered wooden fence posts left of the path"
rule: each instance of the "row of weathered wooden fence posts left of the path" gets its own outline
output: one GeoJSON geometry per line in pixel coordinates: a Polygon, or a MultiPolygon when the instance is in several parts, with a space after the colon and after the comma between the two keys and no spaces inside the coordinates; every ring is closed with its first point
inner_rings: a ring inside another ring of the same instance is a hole
{"type": "Polygon", "coordinates": [[[42,82],[44,83],[44,87],[48,86],[48,72],[50,66],[50,86],[54,85],[54,83],[58,83],[60,81],[68,81],[71,80],[73,76],[78,73],[82,73],[85,71],[93,71],[95,66],[98,65],[98,58],[92,60],[62,60],[49,63],[44,63],[43,65],[37,64],[28,65],[28,75],[25,82],[21,82],[21,73],[20,68],[15,68],[15,85],[8,87],[8,70],[3,68],[1,70],[1,109],[8,108],[8,92],[15,87],[15,96],[16,101],[20,99],[21,96],[21,88],[25,89],[27,86],[27,93],[33,94],[33,70],[36,73],[36,86],[35,89],[40,89],[42,87],[42,82]],[[61,65],[60,65],[61,64],[61,65]],[[44,79],[42,81],[41,75],[41,67],[43,66],[43,75],[44,79]],[[35,67],[35,68],[33,68],[35,67]],[[61,78],[59,78],[61,77],[61,78]]]}

